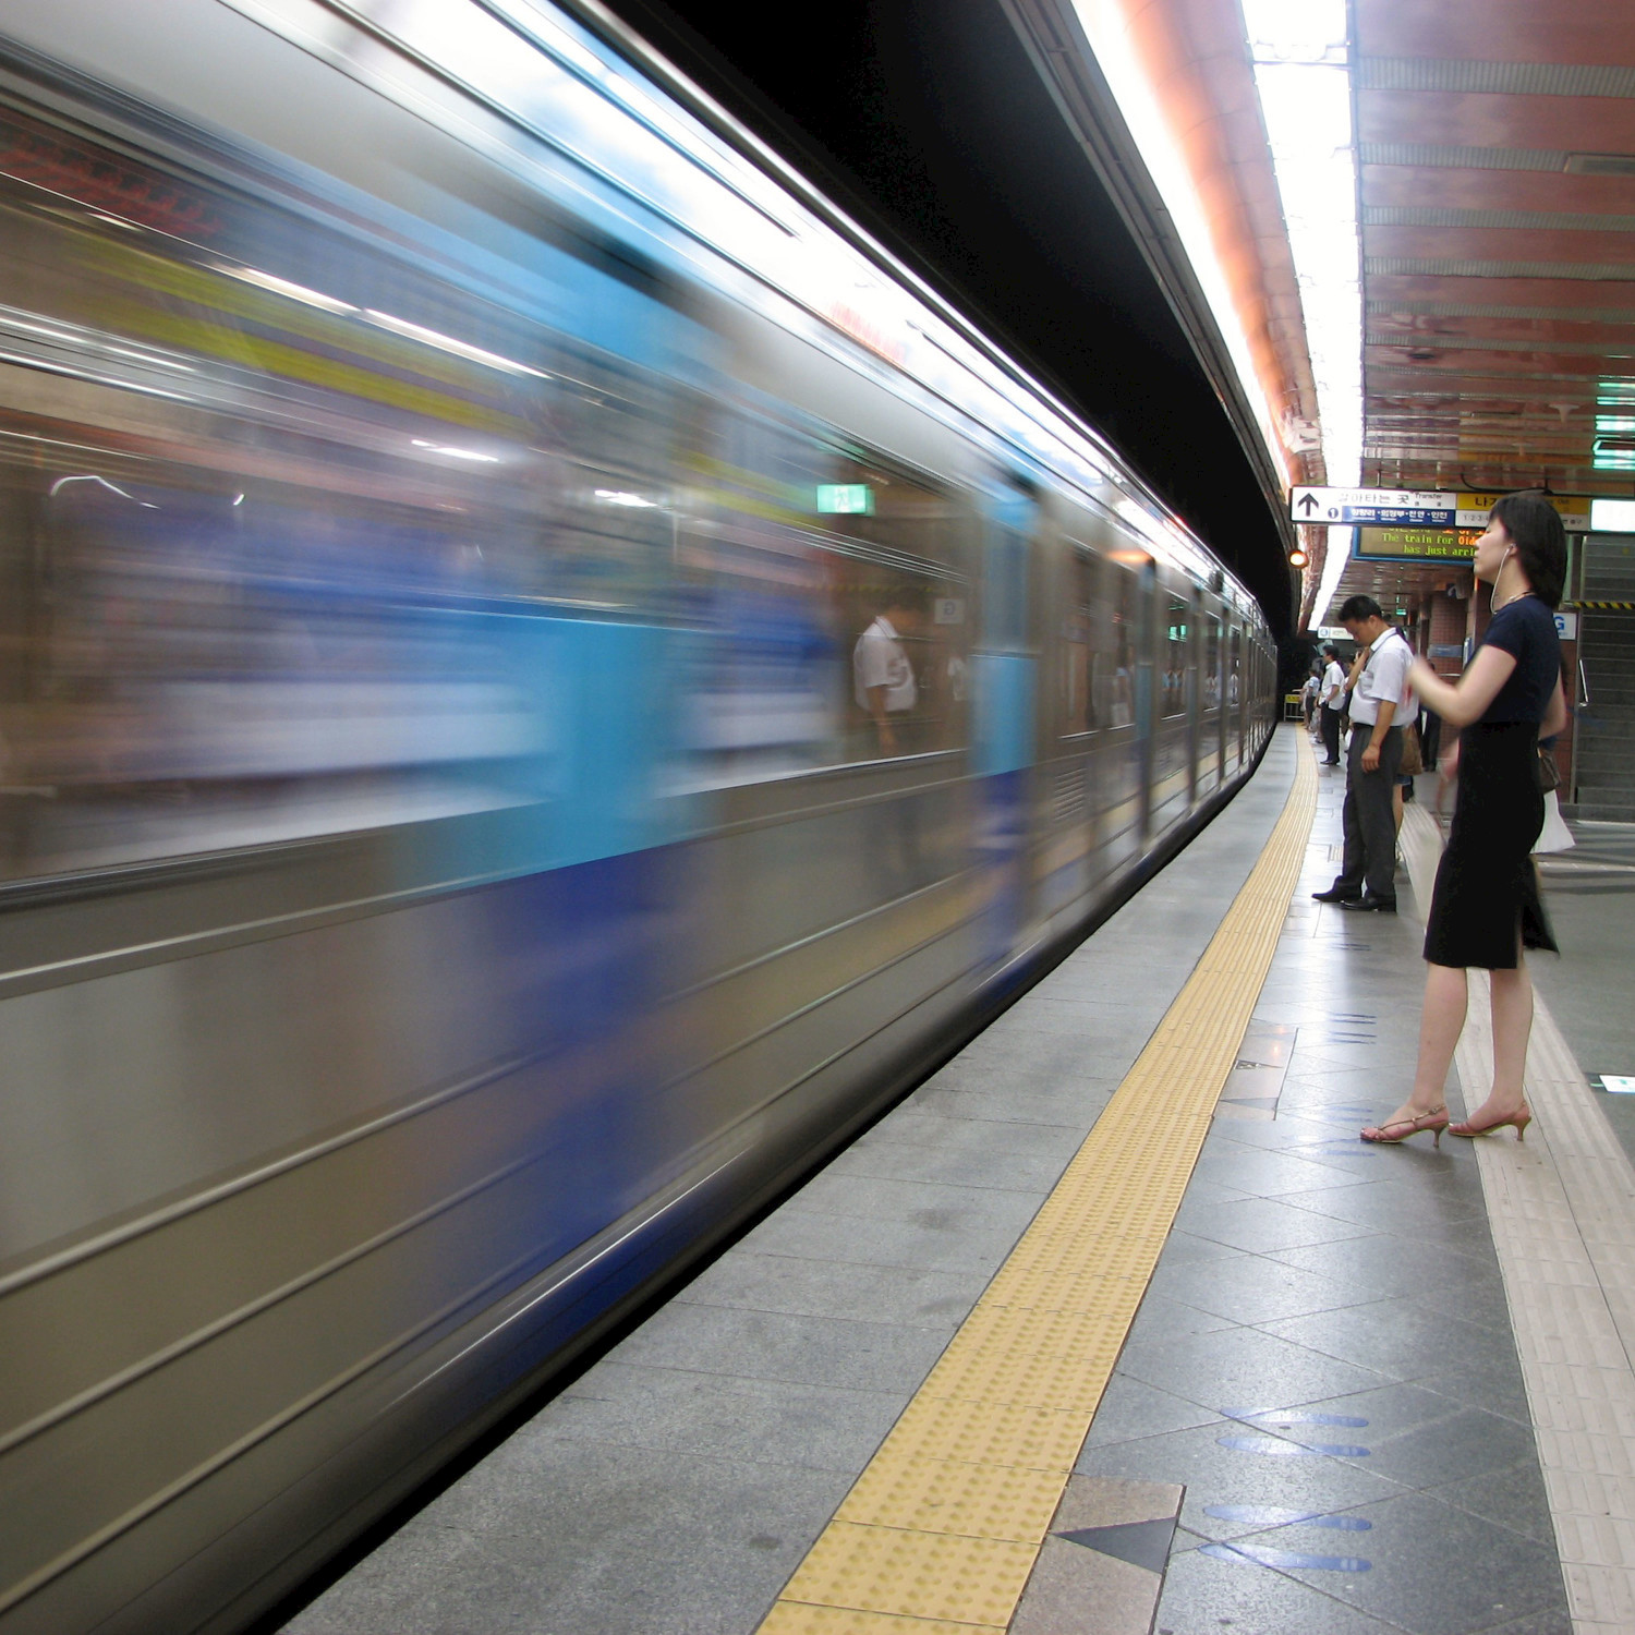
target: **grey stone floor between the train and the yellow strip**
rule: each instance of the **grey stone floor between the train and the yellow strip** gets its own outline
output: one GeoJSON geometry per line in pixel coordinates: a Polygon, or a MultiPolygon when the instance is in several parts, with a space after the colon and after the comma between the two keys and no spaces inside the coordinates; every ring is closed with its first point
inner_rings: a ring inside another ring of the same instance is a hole
{"type": "Polygon", "coordinates": [[[289,1635],[749,1635],[1192,973],[1293,754],[289,1635]]]}

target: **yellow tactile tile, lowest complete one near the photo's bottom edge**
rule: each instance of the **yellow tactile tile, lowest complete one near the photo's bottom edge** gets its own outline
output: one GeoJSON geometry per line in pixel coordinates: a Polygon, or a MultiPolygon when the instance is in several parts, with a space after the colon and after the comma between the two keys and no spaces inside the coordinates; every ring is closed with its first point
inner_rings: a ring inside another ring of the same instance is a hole
{"type": "Polygon", "coordinates": [[[783,1601],[956,1624],[1009,1624],[1037,1545],[834,1521],[783,1601]]]}

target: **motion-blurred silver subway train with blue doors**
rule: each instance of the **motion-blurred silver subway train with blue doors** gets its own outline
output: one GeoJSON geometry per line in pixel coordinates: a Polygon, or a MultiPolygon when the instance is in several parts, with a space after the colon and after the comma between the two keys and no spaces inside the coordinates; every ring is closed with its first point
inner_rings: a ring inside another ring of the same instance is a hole
{"type": "Polygon", "coordinates": [[[1200,822],[1274,654],[611,25],[0,28],[0,1630],[226,1630],[1200,822]]]}

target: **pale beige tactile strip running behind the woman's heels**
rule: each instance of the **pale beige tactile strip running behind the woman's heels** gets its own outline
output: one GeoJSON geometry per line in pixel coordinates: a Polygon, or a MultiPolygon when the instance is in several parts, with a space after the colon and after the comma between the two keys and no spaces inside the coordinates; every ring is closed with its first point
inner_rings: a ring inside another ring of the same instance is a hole
{"type": "MultiPolygon", "coordinates": [[[[1409,806],[1403,852],[1421,906],[1442,840],[1409,806]]],[[[1465,1105],[1493,1084],[1485,973],[1454,1055],[1465,1105]]],[[[1575,1635],[1635,1628],[1635,1171],[1591,1100],[1573,1053],[1534,994],[1525,1143],[1476,1143],[1493,1248],[1555,1522],[1575,1635]]]]}

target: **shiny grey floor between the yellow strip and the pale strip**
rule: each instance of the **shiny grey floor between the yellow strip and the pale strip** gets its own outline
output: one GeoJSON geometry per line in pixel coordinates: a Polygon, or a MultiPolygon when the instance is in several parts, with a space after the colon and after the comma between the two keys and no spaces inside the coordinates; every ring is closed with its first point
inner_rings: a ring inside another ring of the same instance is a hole
{"type": "Polygon", "coordinates": [[[1357,1141],[1424,966],[1406,875],[1395,919],[1310,901],[1341,796],[1243,1048],[1275,1117],[1216,1118],[1077,1468],[1185,1483],[1169,1635],[1570,1635],[1475,1154],[1357,1141]]]}

